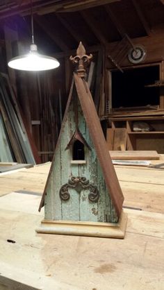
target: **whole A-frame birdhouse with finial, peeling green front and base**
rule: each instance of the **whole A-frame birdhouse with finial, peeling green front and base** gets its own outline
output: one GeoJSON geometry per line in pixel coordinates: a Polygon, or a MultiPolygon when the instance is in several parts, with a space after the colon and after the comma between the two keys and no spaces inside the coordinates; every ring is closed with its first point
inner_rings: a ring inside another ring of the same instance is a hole
{"type": "Polygon", "coordinates": [[[79,44],[65,116],[44,189],[40,210],[45,217],[37,232],[123,238],[124,196],[88,84],[85,55],[79,44]]]}

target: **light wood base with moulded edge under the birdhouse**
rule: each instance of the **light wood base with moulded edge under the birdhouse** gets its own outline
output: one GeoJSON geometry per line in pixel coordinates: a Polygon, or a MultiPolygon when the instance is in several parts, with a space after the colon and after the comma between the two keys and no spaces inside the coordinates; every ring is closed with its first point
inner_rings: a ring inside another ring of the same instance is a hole
{"type": "Polygon", "coordinates": [[[106,237],[124,239],[127,216],[122,212],[118,223],[93,223],[87,221],[43,220],[38,233],[68,234],[75,236],[106,237]]]}

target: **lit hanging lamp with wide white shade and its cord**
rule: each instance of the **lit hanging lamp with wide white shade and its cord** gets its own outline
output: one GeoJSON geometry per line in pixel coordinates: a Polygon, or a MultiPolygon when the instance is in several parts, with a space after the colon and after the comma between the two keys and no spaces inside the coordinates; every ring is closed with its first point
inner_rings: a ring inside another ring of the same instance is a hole
{"type": "Polygon", "coordinates": [[[38,53],[37,45],[34,43],[34,34],[33,34],[33,3],[31,0],[31,36],[32,44],[30,46],[30,51],[28,54],[23,56],[17,56],[12,58],[8,62],[8,66],[13,69],[20,69],[23,71],[45,71],[48,69],[55,69],[60,65],[56,58],[51,56],[44,56],[38,53]]]}

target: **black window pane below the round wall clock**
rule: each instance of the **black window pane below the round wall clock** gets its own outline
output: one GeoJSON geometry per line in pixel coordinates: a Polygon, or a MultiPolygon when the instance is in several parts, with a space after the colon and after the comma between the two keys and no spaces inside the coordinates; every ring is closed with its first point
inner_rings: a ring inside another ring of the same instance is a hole
{"type": "Polygon", "coordinates": [[[159,80],[160,67],[152,65],[112,71],[112,108],[159,105],[158,87],[147,87],[159,80]]]}

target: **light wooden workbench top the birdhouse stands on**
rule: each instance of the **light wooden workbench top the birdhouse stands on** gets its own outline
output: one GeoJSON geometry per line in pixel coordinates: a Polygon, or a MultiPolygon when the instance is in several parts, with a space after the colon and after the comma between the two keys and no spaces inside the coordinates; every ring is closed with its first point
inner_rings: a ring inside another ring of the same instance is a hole
{"type": "Polygon", "coordinates": [[[35,233],[49,167],[0,175],[0,289],[163,290],[164,170],[115,166],[129,216],[120,240],[35,233]]]}

